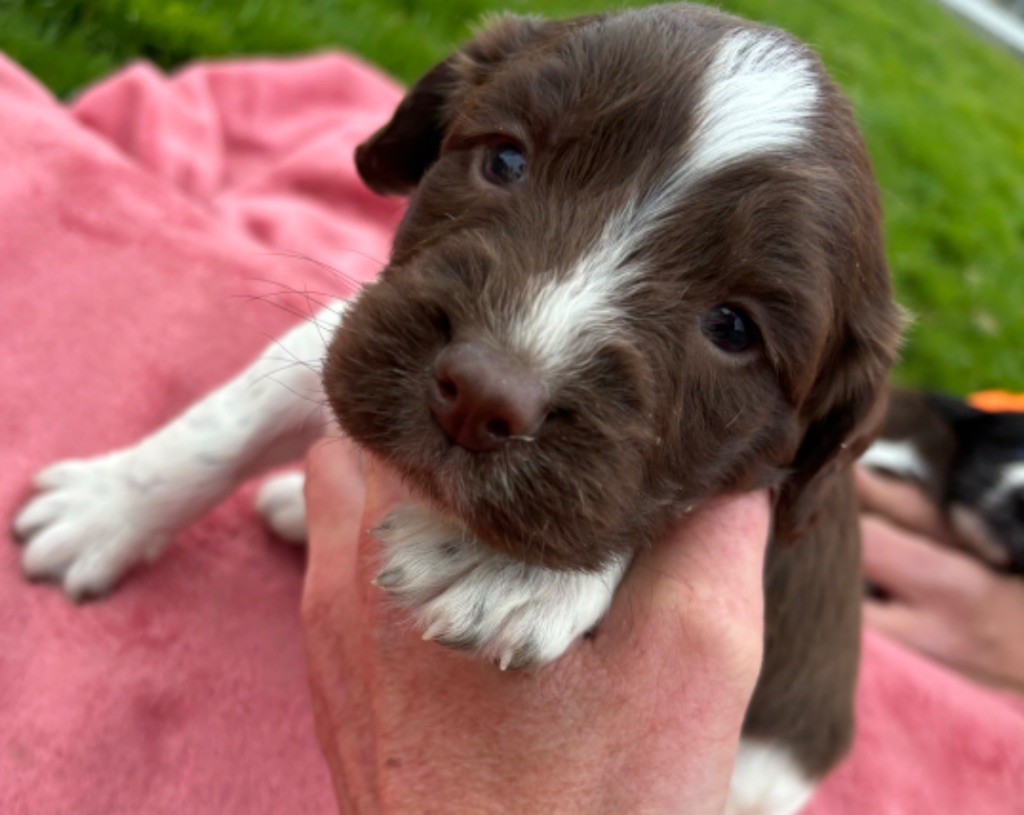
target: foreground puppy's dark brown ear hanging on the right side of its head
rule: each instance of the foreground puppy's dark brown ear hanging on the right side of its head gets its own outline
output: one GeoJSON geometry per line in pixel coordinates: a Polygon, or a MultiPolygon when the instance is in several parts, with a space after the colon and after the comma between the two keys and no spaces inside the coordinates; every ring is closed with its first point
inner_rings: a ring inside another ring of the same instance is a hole
{"type": "Polygon", "coordinates": [[[807,430],[776,494],[777,544],[795,543],[810,530],[831,477],[860,458],[882,429],[903,323],[902,311],[889,302],[873,319],[861,312],[822,367],[807,399],[807,430]]]}

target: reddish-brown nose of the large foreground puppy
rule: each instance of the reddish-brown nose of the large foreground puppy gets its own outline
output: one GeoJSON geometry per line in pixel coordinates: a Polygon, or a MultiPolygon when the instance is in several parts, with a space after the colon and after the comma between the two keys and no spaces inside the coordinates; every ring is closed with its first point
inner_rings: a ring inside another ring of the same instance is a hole
{"type": "Polygon", "coordinates": [[[456,444],[493,451],[540,429],[546,391],[536,374],[498,351],[479,343],[456,342],[434,362],[430,410],[456,444]]]}

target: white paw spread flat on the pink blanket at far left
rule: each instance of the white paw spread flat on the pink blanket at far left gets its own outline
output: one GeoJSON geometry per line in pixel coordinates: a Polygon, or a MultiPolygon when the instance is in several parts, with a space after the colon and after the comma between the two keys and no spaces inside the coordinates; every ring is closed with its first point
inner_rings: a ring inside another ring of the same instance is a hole
{"type": "Polygon", "coordinates": [[[135,471],[131,451],[65,461],[33,479],[37,495],[15,516],[31,580],[63,587],[72,600],[104,594],[132,565],[153,560],[173,533],[147,495],[159,487],[135,471]]]}

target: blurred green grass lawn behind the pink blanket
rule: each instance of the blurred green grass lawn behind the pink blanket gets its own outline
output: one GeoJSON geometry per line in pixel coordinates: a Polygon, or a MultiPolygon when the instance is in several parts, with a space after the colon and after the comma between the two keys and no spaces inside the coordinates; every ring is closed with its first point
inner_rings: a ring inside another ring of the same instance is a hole
{"type": "MultiPolygon", "coordinates": [[[[1024,389],[1024,66],[929,0],[727,0],[814,45],[856,105],[916,315],[906,383],[1024,389]]],[[[0,0],[0,48],[66,96],[135,58],[346,48],[411,81],[496,8],[596,0],[0,0]]]]}

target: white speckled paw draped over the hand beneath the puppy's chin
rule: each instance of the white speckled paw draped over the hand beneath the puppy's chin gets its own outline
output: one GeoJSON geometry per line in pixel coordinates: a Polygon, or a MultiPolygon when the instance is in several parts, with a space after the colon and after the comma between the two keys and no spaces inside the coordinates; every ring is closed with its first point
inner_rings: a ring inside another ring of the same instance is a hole
{"type": "Polygon", "coordinates": [[[534,566],[477,542],[416,505],[374,530],[382,544],[376,583],[412,609],[424,639],[473,651],[506,668],[539,668],[593,628],[627,561],[599,572],[534,566]]]}

